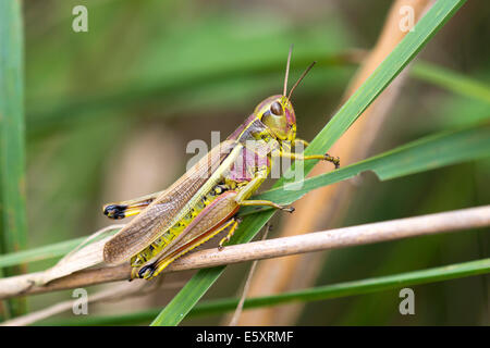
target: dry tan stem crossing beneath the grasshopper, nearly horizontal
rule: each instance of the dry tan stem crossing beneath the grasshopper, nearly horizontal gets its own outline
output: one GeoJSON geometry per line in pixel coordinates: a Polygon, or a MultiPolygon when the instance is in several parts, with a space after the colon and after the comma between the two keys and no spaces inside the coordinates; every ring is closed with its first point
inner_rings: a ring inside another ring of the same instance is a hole
{"type": "MultiPolygon", "coordinates": [[[[163,272],[212,268],[237,262],[345,248],[429,234],[464,231],[489,225],[490,206],[483,206],[228,246],[221,251],[218,251],[217,248],[206,249],[175,260],[163,272]]],[[[28,282],[29,276],[36,278],[39,274],[13,276],[0,279],[0,299],[124,281],[130,278],[130,274],[131,268],[128,263],[111,268],[102,266],[99,269],[78,271],[46,285],[32,285],[22,291],[17,290],[19,285],[16,283],[28,282]]]]}

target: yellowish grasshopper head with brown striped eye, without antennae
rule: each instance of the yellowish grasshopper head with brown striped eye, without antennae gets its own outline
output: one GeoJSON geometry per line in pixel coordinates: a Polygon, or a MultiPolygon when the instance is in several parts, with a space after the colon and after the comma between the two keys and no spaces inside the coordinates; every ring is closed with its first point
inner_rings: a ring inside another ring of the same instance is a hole
{"type": "Polygon", "coordinates": [[[269,97],[255,108],[254,113],[279,141],[293,141],[296,137],[296,116],[287,97],[269,97]]]}

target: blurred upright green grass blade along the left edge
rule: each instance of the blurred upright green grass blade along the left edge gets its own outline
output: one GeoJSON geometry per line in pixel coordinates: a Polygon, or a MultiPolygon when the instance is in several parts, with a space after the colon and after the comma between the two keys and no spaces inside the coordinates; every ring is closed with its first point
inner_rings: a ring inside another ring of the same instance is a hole
{"type": "MultiPolygon", "coordinates": [[[[24,41],[21,2],[0,2],[0,248],[11,252],[26,246],[24,144],[24,41]]],[[[4,270],[19,274],[22,268],[4,270]]],[[[25,303],[13,300],[12,313],[25,303]]],[[[1,316],[1,313],[0,313],[1,316]]]]}

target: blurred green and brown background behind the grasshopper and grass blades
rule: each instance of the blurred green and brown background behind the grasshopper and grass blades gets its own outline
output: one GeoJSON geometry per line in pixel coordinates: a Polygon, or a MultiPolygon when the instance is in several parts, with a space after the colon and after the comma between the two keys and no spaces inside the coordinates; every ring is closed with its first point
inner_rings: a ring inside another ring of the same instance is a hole
{"type": "MultiPolygon", "coordinates": [[[[334,113],[357,65],[336,58],[370,49],[391,1],[24,1],[28,248],[108,225],[101,206],[161,190],[179,177],[186,144],[230,134],[265,97],[281,92],[287,50],[292,79],[319,63],[295,92],[298,136],[311,139],[334,113]],[[72,9],[88,9],[88,33],[72,9]]],[[[490,80],[490,5],[468,1],[419,54],[490,80]]],[[[487,103],[420,79],[404,86],[371,153],[489,116],[487,103]]],[[[356,188],[342,225],[490,202],[490,162],[478,161],[356,188]]],[[[275,217],[277,219],[277,217],[275,217]]],[[[279,229],[279,228],[278,228],[279,229]]],[[[395,274],[489,256],[483,231],[332,251],[317,284],[395,274]]],[[[29,264],[29,272],[54,260],[29,264]]],[[[206,298],[235,296],[248,265],[233,265],[206,298]]],[[[396,291],[309,303],[299,325],[488,325],[488,276],[416,287],[416,315],[400,315],[396,291]]],[[[170,291],[137,300],[161,306],[170,291]]],[[[30,309],[71,298],[30,297],[30,309]]],[[[133,303],[133,304],[131,304],[133,303]]],[[[97,304],[100,314],[134,302],[97,304]]],[[[70,316],[70,315],[68,315],[70,316]]],[[[219,316],[184,324],[218,324],[219,316]]]]}

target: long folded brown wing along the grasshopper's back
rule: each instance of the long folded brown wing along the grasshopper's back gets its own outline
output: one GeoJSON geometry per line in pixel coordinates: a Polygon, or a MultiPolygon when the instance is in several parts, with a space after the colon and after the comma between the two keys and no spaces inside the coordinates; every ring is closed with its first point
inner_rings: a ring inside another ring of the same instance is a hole
{"type": "Polygon", "coordinates": [[[176,214],[208,181],[235,145],[233,140],[225,140],[212,148],[139,215],[109,239],[103,246],[105,262],[117,264],[130,259],[176,223],[176,214]]]}

